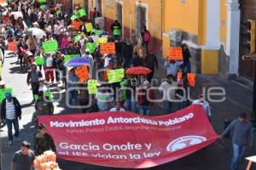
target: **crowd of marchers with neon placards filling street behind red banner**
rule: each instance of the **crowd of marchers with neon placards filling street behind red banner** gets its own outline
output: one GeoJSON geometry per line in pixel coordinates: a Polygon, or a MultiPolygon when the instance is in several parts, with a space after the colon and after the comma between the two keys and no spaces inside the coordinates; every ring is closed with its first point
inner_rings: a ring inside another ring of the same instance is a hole
{"type": "MultiPolygon", "coordinates": [[[[49,87],[66,89],[67,105],[80,106],[83,113],[133,111],[143,116],[150,116],[150,109],[158,94],[151,87],[154,72],[159,68],[159,61],[150,48],[151,35],[147,27],[144,26],[141,34],[132,40],[126,40],[122,38],[122,29],[118,20],[115,20],[110,28],[106,28],[96,23],[95,14],[91,19],[86,15],[79,15],[80,9],[83,8],[79,4],[75,5],[73,14],[69,14],[61,4],[51,6],[47,3],[40,4],[37,1],[27,0],[10,1],[8,6],[0,7],[2,28],[0,48],[4,54],[4,51],[9,49],[9,44],[15,42],[14,52],[20,64],[20,71],[27,71],[26,83],[32,88],[32,103],[35,104],[36,110],[32,116],[32,125],[36,129],[33,144],[36,156],[41,155],[45,150],[55,151],[53,139],[46,133],[44,125],[38,125],[38,116],[53,115],[55,111],[54,96],[49,87]],[[88,27],[90,24],[92,28],[88,27]],[[31,28],[38,28],[41,31],[28,31],[31,28]],[[115,54],[101,53],[102,42],[98,41],[101,37],[107,38],[107,42],[114,43],[115,54]],[[49,41],[58,43],[55,52],[45,52],[44,42],[49,41]],[[88,48],[92,43],[96,44],[96,48],[88,48]],[[74,54],[88,61],[86,65],[90,73],[89,78],[97,77],[98,82],[101,82],[97,83],[96,94],[90,95],[84,88],[87,86],[86,81],[79,81],[76,71],[78,66],[67,65],[67,56],[74,54]],[[44,58],[43,64],[37,63],[38,57],[44,58]],[[134,67],[148,68],[150,72],[125,74],[120,82],[108,83],[108,71],[134,67]]],[[[191,104],[186,98],[190,88],[187,74],[191,72],[189,48],[186,44],[180,47],[183,49],[183,60],[166,58],[164,63],[166,78],[160,83],[159,91],[163,93],[165,114],[181,110],[191,104]],[[176,105],[174,101],[178,96],[182,97],[178,100],[177,107],[174,107],[176,105]]],[[[4,88],[4,82],[3,87],[0,88],[4,88]]],[[[193,104],[202,105],[211,121],[210,105],[202,91],[193,104]]],[[[21,106],[11,93],[5,94],[1,104],[1,119],[8,127],[9,145],[13,144],[13,125],[15,138],[20,141],[21,106]]],[[[233,123],[232,126],[236,125],[233,123]]],[[[21,150],[15,153],[12,170],[29,169],[34,159],[30,147],[31,144],[23,142],[21,150]],[[29,159],[24,161],[22,158],[24,155],[29,156],[29,159]],[[21,164],[24,167],[20,167],[21,164]]]]}

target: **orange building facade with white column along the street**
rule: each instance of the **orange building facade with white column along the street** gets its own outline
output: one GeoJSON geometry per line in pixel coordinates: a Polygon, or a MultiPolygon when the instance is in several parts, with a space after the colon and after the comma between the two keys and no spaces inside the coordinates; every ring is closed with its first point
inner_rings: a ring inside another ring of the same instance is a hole
{"type": "MultiPolygon", "coordinates": [[[[59,0],[61,1],[61,0],[59,0]]],[[[166,57],[170,31],[183,32],[192,55],[192,71],[224,77],[253,77],[253,62],[242,61],[241,23],[256,19],[256,0],[73,0],[94,8],[109,30],[114,20],[132,40],[143,26],[151,33],[150,48],[166,57]]]]}

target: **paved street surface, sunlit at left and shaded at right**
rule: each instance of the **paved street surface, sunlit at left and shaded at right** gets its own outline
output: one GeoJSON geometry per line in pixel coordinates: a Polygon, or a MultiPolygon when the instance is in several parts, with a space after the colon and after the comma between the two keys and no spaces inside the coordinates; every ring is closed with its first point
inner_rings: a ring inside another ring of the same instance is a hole
{"type": "MultiPolygon", "coordinates": [[[[164,75],[164,68],[161,65],[160,71],[156,73],[156,77],[162,77],[164,75]]],[[[34,106],[31,104],[32,93],[30,88],[26,85],[26,73],[20,72],[20,66],[16,63],[16,58],[13,55],[8,54],[5,59],[3,79],[7,83],[7,87],[14,88],[15,96],[20,100],[23,107],[22,120],[20,121],[20,137],[32,141],[34,130],[32,127],[24,127],[32,118],[34,106]]],[[[252,107],[252,88],[247,82],[228,82],[218,76],[199,76],[197,78],[197,86],[193,95],[195,96],[196,89],[201,86],[212,87],[221,86],[226,89],[227,99],[220,104],[212,103],[212,124],[218,133],[221,133],[224,127],[224,119],[234,119],[240,111],[247,111],[249,113],[252,107]]],[[[54,90],[54,89],[53,89],[54,90]]],[[[57,94],[63,92],[56,92],[57,94]]],[[[55,103],[55,114],[68,114],[79,112],[79,110],[70,110],[65,106],[65,99],[61,103],[55,103]]],[[[162,112],[161,105],[155,105],[152,113],[153,115],[160,115],[162,112]]],[[[195,124],[195,126],[200,126],[195,124]]],[[[3,167],[1,169],[8,170],[11,158],[15,150],[20,149],[20,144],[15,142],[13,146],[8,145],[7,129],[3,127],[1,129],[1,151],[3,153],[3,167]]],[[[255,154],[255,150],[248,150],[247,156],[255,154]]],[[[203,150],[199,150],[195,154],[186,156],[178,161],[173,161],[162,165],[160,167],[149,168],[152,170],[227,170],[230,166],[231,150],[230,140],[226,140],[224,146],[218,142],[208,146],[203,150]],[[224,149],[224,147],[226,149],[224,149]]],[[[60,166],[63,170],[97,170],[97,169],[118,169],[109,167],[97,167],[88,164],[77,163],[73,161],[60,160],[60,166]]],[[[241,169],[245,169],[245,163],[241,166],[241,169]]]]}

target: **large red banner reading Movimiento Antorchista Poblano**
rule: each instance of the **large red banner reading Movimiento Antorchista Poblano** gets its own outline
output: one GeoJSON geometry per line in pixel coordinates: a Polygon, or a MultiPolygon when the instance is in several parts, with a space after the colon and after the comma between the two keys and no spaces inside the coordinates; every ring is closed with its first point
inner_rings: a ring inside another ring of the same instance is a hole
{"type": "Polygon", "coordinates": [[[201,105],[166,116],[105,112],[39,116],[57,156],[108,167],[154,167],[206,147],[218,135],[201,105]]]}

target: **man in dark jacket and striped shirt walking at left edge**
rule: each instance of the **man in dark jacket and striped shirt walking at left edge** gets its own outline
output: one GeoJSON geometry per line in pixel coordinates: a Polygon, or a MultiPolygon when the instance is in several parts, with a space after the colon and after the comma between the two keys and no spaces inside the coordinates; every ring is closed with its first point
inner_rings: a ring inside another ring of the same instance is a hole
{"type": "Polygon", "coordinates": [[[18,118],[21,119],[21,106],[18,99],[12,97],[12,94],[6,93],[1,105],[1,118],[7,124],[9,145],[13,144],[13,124],[15,127],[15,137],[20,142],[20,129],[18,118]]]}

